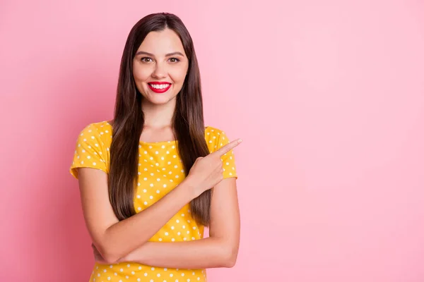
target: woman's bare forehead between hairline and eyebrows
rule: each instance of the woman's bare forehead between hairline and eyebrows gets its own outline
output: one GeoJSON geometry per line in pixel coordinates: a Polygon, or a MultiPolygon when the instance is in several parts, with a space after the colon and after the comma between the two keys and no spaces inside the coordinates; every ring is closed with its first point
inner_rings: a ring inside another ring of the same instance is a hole
{"type": "Polygon", "coordinates": [[[176,51],[185,54],[181,39],[174,30],[168,28],[149,32],[137,51],[146,51],[157,56],[164,56],[176,51]]]}

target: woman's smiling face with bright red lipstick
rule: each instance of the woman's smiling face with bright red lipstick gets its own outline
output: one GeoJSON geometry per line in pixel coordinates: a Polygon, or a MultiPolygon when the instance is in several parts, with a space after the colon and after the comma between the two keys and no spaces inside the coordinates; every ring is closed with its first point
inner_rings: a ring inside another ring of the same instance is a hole
{"type": "Polygon", "coordinates": [[[136,51],[133,76],[136,87],[152,104],[174,101],[184,83],[189,60],[177,33],[150,32],[136,51]]]}

